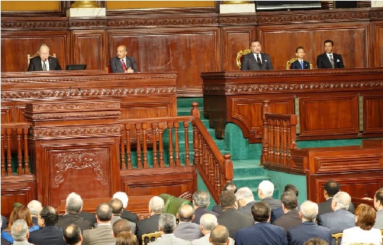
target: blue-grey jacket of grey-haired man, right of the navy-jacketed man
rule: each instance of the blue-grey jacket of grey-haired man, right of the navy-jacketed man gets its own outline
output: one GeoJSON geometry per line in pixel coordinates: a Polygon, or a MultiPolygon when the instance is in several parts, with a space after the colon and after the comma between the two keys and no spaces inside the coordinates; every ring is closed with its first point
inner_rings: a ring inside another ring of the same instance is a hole
{"type": "Polygon", "coordinates": [[[303,245],[314,237],[323,239],[329,244],[331,243],[331,230],[310,221],[305,221],[299,226],[288,229],[286,236],[288,245],[303,245]]]}

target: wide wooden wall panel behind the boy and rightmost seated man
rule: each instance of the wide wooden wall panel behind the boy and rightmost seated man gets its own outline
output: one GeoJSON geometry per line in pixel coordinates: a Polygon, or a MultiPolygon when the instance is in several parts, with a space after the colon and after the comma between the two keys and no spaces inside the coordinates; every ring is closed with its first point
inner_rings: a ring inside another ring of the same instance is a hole
{"type": "Polygon", "coordinates": [[[368,22],[258,26],[258,37],[275,70],[285,69],[298,46],[305,48],[305,60],[316,68],[327,39],[334,41],[333,52],[342,55],[346,68],[370,67],[368,22]]]}

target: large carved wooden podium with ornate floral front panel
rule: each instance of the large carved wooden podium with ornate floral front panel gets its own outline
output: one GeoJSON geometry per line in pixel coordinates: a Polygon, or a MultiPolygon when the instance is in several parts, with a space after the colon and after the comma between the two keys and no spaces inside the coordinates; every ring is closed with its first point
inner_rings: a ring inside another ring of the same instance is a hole
{"type": "Polygon", "coordinates": [[[120,100],[32,102],[25,117],[43,205],[58,207],[70,192],[90,199],[120,190],[120,100]]]}

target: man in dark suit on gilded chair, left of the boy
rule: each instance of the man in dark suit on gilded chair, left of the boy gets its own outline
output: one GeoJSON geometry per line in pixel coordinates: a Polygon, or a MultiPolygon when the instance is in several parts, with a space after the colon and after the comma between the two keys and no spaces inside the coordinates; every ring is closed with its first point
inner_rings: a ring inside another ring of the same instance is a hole
{"type": "Polygon", "coordinates": [[[273,70],[271,58],[267,53],[261,53],[262,46],[259,41],[251,42],[251,53],[241,58],[241,71],[273,70]]]}

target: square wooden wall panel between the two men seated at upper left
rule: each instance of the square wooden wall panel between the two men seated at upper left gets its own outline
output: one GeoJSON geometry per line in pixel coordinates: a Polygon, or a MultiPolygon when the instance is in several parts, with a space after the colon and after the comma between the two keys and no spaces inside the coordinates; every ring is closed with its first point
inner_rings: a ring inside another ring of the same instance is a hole
{"type": "Polygon", "coordinates": [[[75,30],[71,32],[71,64],[86,64],[87,70],[104,70],[109,60],[106,56],[105,31],[75,30]]]}

